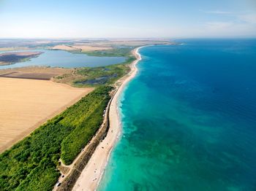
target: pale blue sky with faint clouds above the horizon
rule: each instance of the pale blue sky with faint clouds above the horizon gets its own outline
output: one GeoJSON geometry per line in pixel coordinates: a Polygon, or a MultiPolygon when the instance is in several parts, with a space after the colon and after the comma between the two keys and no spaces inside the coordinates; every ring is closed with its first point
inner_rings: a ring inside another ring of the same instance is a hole
{"type": "Polygon", "coordinates": [[[256,0],[0,0],[0,38],[256,37],[256,0]]]}

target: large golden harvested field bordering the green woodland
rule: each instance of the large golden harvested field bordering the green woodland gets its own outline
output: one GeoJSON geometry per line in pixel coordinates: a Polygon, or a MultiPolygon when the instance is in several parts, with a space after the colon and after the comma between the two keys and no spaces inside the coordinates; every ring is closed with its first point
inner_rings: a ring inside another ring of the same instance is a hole
{"type": "Polygon", "coordinates": [[[0,77],[0,85],[0,152],[93,90],[4,77],[0,77]]]}

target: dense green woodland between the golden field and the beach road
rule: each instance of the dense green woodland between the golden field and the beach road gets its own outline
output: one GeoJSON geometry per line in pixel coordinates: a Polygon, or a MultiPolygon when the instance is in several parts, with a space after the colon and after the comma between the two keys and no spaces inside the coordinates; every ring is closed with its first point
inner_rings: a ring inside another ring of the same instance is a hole
{"type": "Polygon", "coordinates": [[[102,124],[112,87],[98,87],[0,155],[0,190],[52,190],[59,158],[71,163],[102,124]]]}

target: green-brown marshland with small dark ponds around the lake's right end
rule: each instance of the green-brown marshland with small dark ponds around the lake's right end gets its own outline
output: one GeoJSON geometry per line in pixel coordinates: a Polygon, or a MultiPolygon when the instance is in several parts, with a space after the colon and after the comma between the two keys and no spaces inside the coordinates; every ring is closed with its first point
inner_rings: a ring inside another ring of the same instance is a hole
{"type": "Polygon", "coordinates": [[[75,69],[72,74],[64,74],[56,77],[57,82],[68,83],[75,87],[97,87],[100,85],[112,85],[116,80],[123,77],[130,71],[129,63],[135,61],[132,55],[133,47],[120,47],[113,50],[97,50],[85,52],[88,55],[95,56],[124,56],[127,60],[124,63],[114,64],[110,66],[102,66],[97,68],[80,68],[75,69]]]}

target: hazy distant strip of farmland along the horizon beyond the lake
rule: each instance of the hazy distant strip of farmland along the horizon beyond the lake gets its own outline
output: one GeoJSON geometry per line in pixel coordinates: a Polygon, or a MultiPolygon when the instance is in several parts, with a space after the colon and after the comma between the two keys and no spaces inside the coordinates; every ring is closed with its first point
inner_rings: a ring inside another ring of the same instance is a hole
{"type": "Polygon", "coordinates": [[[36,49],[55,49],[67,51],[91,52],[107,50],[105,48],[115,48],[120,46],[140,47],[150,44],[175,44],[169,39],[7,39],[0,40],[0,51],[4,50],[36,50],[36,49]],[[82,47],[80,47],[82,46],[82,47]]]}

